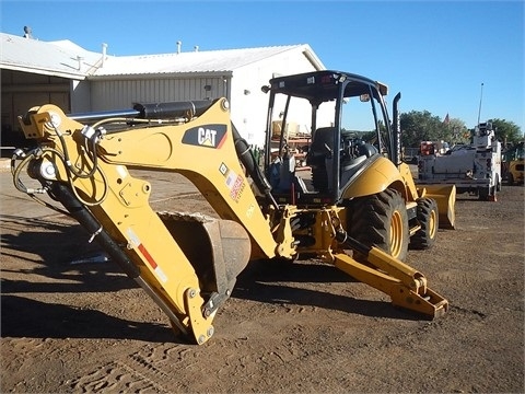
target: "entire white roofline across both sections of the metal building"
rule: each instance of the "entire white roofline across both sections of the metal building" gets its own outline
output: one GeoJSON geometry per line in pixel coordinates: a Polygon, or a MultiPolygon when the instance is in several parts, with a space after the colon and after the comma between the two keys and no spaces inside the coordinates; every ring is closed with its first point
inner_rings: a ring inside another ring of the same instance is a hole
{"type": "Polygon", "coordinates": [[[302,54],[316,69],[325,68],[307,44],[161,55],[104,56],[105,50],[104,54],[89,51],[70,40],[42,42],[0,33],[0,68],[71,79],[225,73],[287,51],[302,54]]]}

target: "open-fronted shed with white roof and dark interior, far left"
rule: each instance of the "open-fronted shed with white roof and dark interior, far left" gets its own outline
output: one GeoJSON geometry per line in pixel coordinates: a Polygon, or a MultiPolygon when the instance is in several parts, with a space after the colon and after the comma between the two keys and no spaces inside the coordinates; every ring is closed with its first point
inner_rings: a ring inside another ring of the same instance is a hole
{"type": "MultiPolygon", "coordinates": [[[[23,140],[16,117],[33,106],[51,103],[71,112],[73,89],[101,59],[101,54],[69,40],[46,43],[0,33],[2,146],[23,140]]],[[[83,100],[89,102],[88,96],[83,100]]]]}

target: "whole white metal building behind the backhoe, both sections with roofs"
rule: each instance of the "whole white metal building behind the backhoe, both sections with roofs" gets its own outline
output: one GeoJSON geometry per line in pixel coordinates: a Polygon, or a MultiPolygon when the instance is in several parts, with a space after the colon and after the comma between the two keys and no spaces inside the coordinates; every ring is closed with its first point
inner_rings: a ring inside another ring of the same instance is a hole
{"type": "Polygon", "coordinates": [[[307,44],[184,51],[178,43],[173,54],[108,56],[105,44],[93,53],[69,40],[0,39],[2,130],[46,103],[83,113],[225,96],[243,137],[262,146],[268,97],[260,88],[275,76],[325,69],[307,44]]]}

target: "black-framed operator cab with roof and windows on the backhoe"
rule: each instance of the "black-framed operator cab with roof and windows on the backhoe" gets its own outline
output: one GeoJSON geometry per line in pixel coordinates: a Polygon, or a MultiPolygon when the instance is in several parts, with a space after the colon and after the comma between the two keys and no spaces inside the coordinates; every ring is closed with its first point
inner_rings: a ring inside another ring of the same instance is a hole
{"type": "Polygon", "coordinates": [[[265,174],[280,204],[331,205],[394,144],[383,96],[368,78],[314,71],[270,80],[265,174]]]}

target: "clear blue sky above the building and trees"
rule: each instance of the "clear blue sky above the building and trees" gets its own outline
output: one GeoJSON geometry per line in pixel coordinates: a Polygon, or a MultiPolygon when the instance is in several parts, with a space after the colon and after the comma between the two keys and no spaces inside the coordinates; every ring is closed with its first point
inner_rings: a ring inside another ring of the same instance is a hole
{"type": "MultiPolygon", "coordinates": [[[[525,131],[524,2],[1,0],[1,31],[109,55],[308,44],[328,69],[385,82],[401,112],[525,131]]],[[[264,111],[264,109],[261,109],[264,111]]]]}

